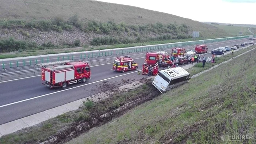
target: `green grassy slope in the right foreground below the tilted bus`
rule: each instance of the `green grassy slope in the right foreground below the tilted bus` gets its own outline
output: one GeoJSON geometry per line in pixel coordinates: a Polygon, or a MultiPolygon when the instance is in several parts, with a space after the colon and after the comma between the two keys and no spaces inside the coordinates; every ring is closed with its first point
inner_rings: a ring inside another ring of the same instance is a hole
{"type": "Polygon", "coordinates": [[[255,54],[191,79],[68,144],[241,143],[221,136],[256,134],[255,54]]]}

